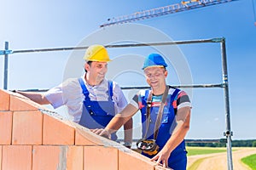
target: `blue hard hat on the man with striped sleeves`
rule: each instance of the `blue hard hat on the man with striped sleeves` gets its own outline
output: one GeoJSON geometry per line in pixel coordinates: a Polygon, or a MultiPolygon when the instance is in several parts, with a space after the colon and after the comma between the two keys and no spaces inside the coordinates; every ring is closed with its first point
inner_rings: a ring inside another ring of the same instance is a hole
{"type": "Polygon", "coordinates": [[[168,65],[166,64],[165,59],[160,54],[149,54],[144,61],[143,70],[148,66],[166,67],[168,65]]]}

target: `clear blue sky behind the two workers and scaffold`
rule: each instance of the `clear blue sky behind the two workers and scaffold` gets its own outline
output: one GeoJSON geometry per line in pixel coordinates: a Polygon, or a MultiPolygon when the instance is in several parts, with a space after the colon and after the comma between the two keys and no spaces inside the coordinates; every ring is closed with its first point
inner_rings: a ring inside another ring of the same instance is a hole
{"type": "MultiPolygon", "coordinates": [[[[191,9],[132,24],[99,27],[109,18],[174,3],[180,1],[0,0],[0,50],[4,42],[9,42],[9,49],[20,50],[224,37],[232,139],[256,139],[256,133],[252,133],[256,129],[256,16],[253,12],[256,7],[253,7],[253,0],[191,9]]],[[[155,52],[166,54],[170,61],[167,82],[171,85],[222,82],[219,43],[108,49],[113,59],[113,64],[109,63],[108,77],[121,87],[147,85],[140,65],[144,56],[155,52]]],[[[48,89],[67,77],[79,77],[83,72],[83,54],[83,50],[10,54],[8,89],[48,89]]],[[[0,55],[0,88],[3,88],[3,62],[3,55],[0,55]]],[[[188,92],[193,105],[186,139],[224,138],[224,89],[183,90],[188,92]]],[[[125,91],[128,100],[134,93],[125,91]]],[[[134,137],[140,138],[139,114],[134,119],[134,137]]]]}

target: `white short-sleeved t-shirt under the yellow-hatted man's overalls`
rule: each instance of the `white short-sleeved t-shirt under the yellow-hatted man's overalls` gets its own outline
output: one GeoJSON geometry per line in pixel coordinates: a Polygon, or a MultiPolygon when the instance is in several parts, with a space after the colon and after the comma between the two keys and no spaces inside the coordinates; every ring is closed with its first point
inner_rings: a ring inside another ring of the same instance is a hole
{"type": "MultiPolygon", "coordinates": [[[[108,100],[108,80],[104,79],[101,84],[90,86],[84,80],[84,84],[89,91],[89,97],[92,101],[107,101],[108,100]]],[[[58,108],[61,105],[67,105],[68,114],[73,116],[73,122],[79,122],[82,111],[84,94],[79,83],[79,78],[70,78],[62,82],[59,86],[49,89],[45,94],[46,99],[54,107],[58,108]]],[[[127,105],[127,100],[117,82],[113,82],[113,102],[115,114],[122,111],[127,105]]]]}

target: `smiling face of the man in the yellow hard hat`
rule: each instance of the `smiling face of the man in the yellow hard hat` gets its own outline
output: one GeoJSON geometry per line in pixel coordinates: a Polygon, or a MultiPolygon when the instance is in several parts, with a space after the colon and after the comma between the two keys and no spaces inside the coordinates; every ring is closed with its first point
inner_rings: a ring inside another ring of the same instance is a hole
{"type": "Polygon", "coordinates": [[[84,68],[86,70],[86,82],[92,86],[95,86],[100,84],[105,78],[108,71],[108,63],[93,61],[90,63],[90,65],[85,63],[84,68]]]}

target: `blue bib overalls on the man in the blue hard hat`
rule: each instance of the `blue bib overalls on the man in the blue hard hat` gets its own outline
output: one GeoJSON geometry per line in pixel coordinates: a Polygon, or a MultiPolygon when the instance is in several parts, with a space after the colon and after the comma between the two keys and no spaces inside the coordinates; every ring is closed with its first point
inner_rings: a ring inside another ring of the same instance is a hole
{"type": "MultiPolygon", "coordinates": [[[[172,131],[174,127],[176,126],[175,122],[175,112],[172,106],[172,102],[177,96],[177,93],[179,92],[179,89],[175,89],[174,93],[172,95],[168,94],[166,98],[166,105],[164,107],[164,111],[162,114],[162,120],[159,128],[159,133],[156,138],[156,144],[159,145],[160,150],[163,149],[168,139],[170,139],[172,135],[172,131]]],[[[146,127],[147,127],[147,99],[148,99],[149,90],[146,90],[145,96],[142,96],[142,107],[141,113],[142,113],[142,122],[143,122],[143,136],[145,136],[146,133],[146,127]]],[[[146,138],[147,139],[154,139],[154,126],[156,117],[158,115],[159,106],[152,106],[150,108],[150,122],[148,126],[148,133],[146,138]]],[[[147,156],[149,158],[152,158],[154,156],[149,156],[145,153],[143,153],[144,156],[147,156]]],[[[168,159],[168,167],[171,167],[174,170],[185,170],[187,167],[187,152],[185,150],[185,142],[177,145],[177,148],[175,148],[171,156],[168,159]]]]}

